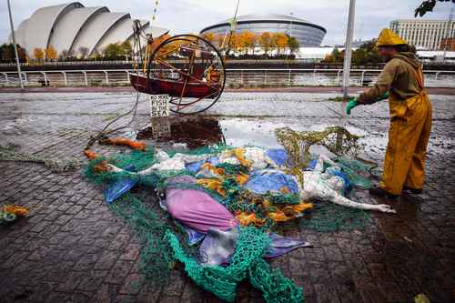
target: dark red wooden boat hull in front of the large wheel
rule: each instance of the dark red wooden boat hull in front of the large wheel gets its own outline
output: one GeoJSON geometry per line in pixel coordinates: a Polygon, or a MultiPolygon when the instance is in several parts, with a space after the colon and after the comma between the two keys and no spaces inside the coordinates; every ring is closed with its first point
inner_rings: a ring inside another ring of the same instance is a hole
{"type": "MultiPolygon", "coordinates": [[[[129,74],[129,81],[135,89],[148,95],[182,96],[185,84],[183,81],[170,79],[147,78],[137,74],[129,74]]],[[[206,85],[200,82],[187,81],[183,97],[215,98],[220,93],[220,86],[206,85]]]]}

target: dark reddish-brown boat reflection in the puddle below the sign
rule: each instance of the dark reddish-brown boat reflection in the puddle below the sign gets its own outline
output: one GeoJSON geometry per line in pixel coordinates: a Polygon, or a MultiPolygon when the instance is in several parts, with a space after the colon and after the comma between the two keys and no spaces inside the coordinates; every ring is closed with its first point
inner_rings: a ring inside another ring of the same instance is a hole
{"type": "Polygon", "coordinates": [[[152,125],[140,130],[136,139],[185,143],[188,148],[225,143],[218,120],[207,116],[154,117],[152,125]]]}

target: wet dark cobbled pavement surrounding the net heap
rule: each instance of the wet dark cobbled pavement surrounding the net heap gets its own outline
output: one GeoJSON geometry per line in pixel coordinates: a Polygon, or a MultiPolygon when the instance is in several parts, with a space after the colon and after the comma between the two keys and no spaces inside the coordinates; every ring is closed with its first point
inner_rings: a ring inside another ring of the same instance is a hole
{"type": "MultiPolygon", "coordinates": [[[[208,122],[198,125],[217,128],[204,135],[210,142],[224,140],[234,146],[278,146],[274,130],[281,126],[295,130],[345,126],[364,136],[362,157],[380,165],[389,127],[387,103],[359,106],[347,117],[344,104],[328,101],[334,96],[225,93],[204,114],[208,122]]],[[[389,203],[398,213],[373,213],[372,224],[365,230],[319,233],[296,225],[297,229],[287,231],[287,236],[306,237],[314,247],[292,251],[270,264],[303,287],[306,302],[413,302],[419,294],[432,303],[455,301],[455,187],[451,184],[455,97],[430,98],[434,120],[424,194],[389,202],[357,190],[354,200],[389,203]]],[[[142,96],[139,101],[136,119],[119,135],[135,137],[148,126],[147,99],[142,96]]],[[[183,270],[173,271],[172,282],[165,288],[148,286],[138,271],[138,239],[106,208],[101,189],[81,176],[86,164],[81,151],[89,136],[134,103],[135,94],[127,91],[0,94],[2,146],[14,146],[16,152],[35,157],[73,161],[79,167],[53,172],[41,164],[0,161],[0,204],[31,209],[30,217],[0,227],[0,301],[219,301],[198,288],[183,270]]],[[[174,130],[175,142],[147,139],[147,143],[185,148],[182,142],[191,139],[200,144],[201,138],[186,130],[194,129],[197,122],[187,121],[173,117],[166,122],[174,130]]],[[[119,125],[127,122],[126,117],[119,125]]],[[[97,145],[96,149],[126,151],[97,145]]],[[[261,302],[262,298],[242,283],[237,301],[261,302]]]]}

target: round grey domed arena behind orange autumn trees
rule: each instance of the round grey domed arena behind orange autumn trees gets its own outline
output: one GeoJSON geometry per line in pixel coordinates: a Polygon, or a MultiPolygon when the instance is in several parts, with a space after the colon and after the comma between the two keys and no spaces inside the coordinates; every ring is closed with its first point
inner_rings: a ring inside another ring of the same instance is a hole
{"type": "MultiPolygon", "coordinates": [[[[210,25],[200,34],[225,35],[230,29],[230,19],[210,25]]],[[[237,17],[236,33],[247,30],[255,34],[285,33],[298,40],[300,46],[319,46],[327,31],[324,27],[289,15],[242,15],[237,17]]]]}

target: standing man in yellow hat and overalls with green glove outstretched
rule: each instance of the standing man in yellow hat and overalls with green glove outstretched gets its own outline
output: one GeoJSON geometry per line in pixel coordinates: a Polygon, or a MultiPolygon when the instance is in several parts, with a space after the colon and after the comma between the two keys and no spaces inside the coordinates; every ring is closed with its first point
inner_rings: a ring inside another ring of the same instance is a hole
{"type": "Polygon", "coordinates": [[[399,197],[401,191],[420,194],[432,112],[421,65],[410,46],[387,28],[380,32],[377,45],[387,64],[375,86],[347,107],[349,115],[353,107],[373,104],[389,93],[389,143],[379,187],[370,188],[369,194],[389,198],[399,197]]]}

